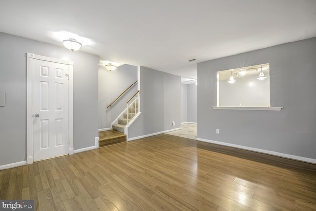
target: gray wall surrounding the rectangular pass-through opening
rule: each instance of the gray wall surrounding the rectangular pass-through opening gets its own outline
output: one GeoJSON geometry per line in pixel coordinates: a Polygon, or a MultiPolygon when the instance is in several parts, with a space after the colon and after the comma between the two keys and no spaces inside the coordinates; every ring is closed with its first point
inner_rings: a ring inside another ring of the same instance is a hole
{"type": "Polygon", "coordinates": [[[316,38],[197,64],[198,138],[316,159],[315,79],[316,38]],[[216,71],[264,63],[270,63],[270,106],[281,111],[211,108],[216,71]]]}

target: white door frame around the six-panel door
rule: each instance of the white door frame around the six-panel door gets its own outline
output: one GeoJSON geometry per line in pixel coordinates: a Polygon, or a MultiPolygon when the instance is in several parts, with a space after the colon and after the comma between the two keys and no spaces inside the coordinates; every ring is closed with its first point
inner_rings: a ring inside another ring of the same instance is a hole
{"type": "Polygon", "coordinates": [[[73,61],[64,61],[46,56],[27,53],[27,164],[32,164],[33,156],[33,59],[50,61],[69,65],[69,89],[68,89],[68,121],[69,121],[69,155],[74,154],[74,121],[73,121],[73,61]]]}

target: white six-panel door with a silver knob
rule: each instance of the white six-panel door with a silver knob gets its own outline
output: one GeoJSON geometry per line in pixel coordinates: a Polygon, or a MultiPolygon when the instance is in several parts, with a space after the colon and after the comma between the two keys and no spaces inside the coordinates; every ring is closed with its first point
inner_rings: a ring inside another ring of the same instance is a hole
{"type": "Polygon", "coordinates": [[[33,60],[34,161],[69,153],[69,65],[33,60]]]}

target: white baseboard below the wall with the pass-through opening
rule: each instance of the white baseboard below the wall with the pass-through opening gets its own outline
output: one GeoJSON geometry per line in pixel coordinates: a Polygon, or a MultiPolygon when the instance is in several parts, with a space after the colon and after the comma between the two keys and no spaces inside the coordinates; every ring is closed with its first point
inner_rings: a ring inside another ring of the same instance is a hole
{"type": "Polygon", "coordinates": [[[260,152],[260,153],[265,153],[265,154],[269,154],[269,155],[275,155],[275,156],[279,156],[279,157],[283,157],[283,158],[290,158],[293,160],[304,161],[304,162],[316,164],[316,159],[313,159],[313,158],[306,158],[306,157],[290,155],[290,154],[285,154],[285,153],[280,153],[280,152],[275,152],[275,151],[270,151],[270,150],[265,150],[265,149],[246,147],[246,146],[241,146],[241,145],[237,145],[237,144],[212,141],[212,140],[207,140],[207,139],[203,139],[203,138],[197,138],[197,141],[203,141],[203,142],[212,143],[212,144],[229,146],[229,147],[234,147],[234,148],[238,148],[238,149],[245,149],[245,150],[249,150],[249,151],[260,152]]]}

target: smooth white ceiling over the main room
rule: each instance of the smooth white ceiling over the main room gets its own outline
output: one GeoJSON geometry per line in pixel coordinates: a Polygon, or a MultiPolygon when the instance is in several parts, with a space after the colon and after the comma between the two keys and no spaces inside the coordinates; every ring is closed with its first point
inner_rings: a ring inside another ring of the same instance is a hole
{"type": "Polygon", "coordinates": [[[0,0],[0,31],[196,78],[199,62],[315,37],[316,0],[0,0]]]}

